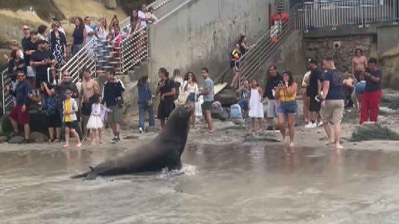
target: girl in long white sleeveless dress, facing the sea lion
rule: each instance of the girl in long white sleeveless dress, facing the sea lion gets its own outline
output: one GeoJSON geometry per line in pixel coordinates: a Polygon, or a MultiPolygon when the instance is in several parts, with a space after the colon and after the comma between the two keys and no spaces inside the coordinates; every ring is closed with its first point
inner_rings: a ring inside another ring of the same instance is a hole
{"type": "Polygon", "coordinates": [[[263,103],[262,103],[263,91],[259,87],[258,81],[252,79],[251,85],[251,97],[248,103],[248,116],[251,118],[251,132],[255,132],[255,118],[258,119],[259,132],[263,133],[263,103]]]}

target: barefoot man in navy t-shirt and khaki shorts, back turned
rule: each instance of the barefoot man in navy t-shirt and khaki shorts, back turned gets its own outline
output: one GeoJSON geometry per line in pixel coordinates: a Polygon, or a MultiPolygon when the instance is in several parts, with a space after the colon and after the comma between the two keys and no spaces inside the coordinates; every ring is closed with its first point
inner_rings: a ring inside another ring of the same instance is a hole
{"type": "Polygon", "coordinates": [[[344,112],[344,88],[343,76],[340,71],[335,68],[333,59],[325,60],[326,71],[323,75],[323,92],[322,96],[322,122],[324,130],[326,130],[328,143],[335,143],[336,149],[342,149],[341,140],[341,120],[344,112]],[[334,138],[332,138],[331,124],[334,124],[334,138]]]}

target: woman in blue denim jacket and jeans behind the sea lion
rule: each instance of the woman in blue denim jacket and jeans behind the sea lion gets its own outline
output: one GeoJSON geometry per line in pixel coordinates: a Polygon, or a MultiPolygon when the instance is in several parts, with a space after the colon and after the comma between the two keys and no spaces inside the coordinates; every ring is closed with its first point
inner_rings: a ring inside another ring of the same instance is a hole
{"type": "Polygon", "coordinates": [[[149,126],[155,126],[154,110],[152,108],[152,86],[148,75],[138,80],[138,130],[144,132],[144,119],[148,112],[149,126]]]}

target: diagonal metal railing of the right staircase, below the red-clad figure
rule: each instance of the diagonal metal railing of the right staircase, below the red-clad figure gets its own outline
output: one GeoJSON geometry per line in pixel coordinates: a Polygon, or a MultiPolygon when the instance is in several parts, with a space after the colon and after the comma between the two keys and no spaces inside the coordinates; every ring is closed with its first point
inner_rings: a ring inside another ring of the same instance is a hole
{"type": "Polygon", "coordinates": [[[282,22],[280,30],[275,33],[268,30],[262,35],[256,43],[239,60],[239,84],[242,85],[245,80],[251,79],[253,75],[261,68],[263,63],[269,59],[272,53],[284,43],[285,39],[294,31],[295,22],[292,18],[295,11],[292,10],[288,22],[282,22]],[[277,41],[272,36],[277,35],[277,41]]]}

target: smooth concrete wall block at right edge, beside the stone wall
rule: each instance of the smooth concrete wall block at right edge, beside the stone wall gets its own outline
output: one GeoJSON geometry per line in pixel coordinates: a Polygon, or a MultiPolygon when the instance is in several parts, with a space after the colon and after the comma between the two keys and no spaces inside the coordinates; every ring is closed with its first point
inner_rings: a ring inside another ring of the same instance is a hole
{"type": "Polygon", "coordinates": [[[399,44],[399,27],[383,26],[377,29],[378,54],[396,47],[399,44]]]}

